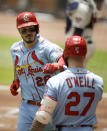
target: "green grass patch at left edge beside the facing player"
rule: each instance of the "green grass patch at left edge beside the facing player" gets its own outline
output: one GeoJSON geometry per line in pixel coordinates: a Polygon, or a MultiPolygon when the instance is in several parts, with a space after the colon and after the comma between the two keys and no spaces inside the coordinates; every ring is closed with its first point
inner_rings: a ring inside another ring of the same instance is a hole
{"type": "Polygon", "coordinates": [[[10,47],[18,38],[0,36],[0,85],[10,85],[13,80],[13,64],[10,47]]]}

